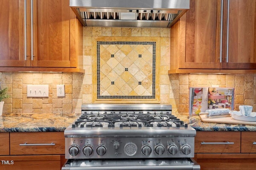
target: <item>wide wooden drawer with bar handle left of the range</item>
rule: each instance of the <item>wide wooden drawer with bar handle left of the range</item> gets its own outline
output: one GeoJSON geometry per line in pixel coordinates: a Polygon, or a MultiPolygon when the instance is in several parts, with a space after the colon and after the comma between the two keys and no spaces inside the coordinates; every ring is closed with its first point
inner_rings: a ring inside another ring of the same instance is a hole
{"type": "Polygon", "coordinates": [[[65,154],[63,132],[11,132],[10,154],[65,154]]]}

